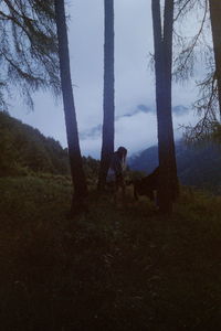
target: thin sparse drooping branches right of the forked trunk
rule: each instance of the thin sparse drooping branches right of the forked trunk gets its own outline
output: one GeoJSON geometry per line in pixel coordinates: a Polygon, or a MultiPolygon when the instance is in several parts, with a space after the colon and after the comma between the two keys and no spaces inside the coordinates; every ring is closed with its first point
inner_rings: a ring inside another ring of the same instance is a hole
{"type": "MultiPolygon", "coordinates": [[[[176,81],[181,82],[193,77],[196,71],[199,70],[199,64],[204,67],[206,72],[204,78],[196,82],[199,96],[192,105],[192,109],[197,111],[200,120],[194,126],[185,127],[186,138],[192,141],[207,138],[208,132],[212,132],[214,122],[220,119],[220,77],[219,67],[215,67],[214,61],[214,49],[217,45],[212,44],[212,15],[209,3],[209,0],[178,0],[176,6],[175,42],[177,55],[173,61],[173,77],[176,81]],[[196,20],[197,29],[193,32],[191,29],[191,32],[188,34],[187,25],[190,18],[196,20]]],[[[218,10],[219,8],[217,7],[219,17],[218,10]]],[[[219,26],[217,28],[215,31],[219,31],[219,26]]],[[[217,65],[219,64],[217,63],[217,65]]]]}

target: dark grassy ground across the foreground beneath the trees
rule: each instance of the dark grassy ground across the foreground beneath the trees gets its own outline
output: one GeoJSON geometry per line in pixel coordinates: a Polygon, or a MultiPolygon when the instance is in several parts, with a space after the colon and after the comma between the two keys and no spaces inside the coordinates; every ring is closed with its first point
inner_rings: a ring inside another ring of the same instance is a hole
{"type": "Polygon", "coordinates": [[[221,197],[182,189],[170,217],[148,200],[90,193],[65,215],[61,177],[0,179],[0,330],[220,330],[221,197]]]}

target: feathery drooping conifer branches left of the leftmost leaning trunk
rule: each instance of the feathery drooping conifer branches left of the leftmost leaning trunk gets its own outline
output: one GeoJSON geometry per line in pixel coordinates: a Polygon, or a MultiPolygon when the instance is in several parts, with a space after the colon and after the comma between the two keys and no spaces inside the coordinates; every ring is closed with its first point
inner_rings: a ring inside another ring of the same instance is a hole
{"type": "Polygon", "coordinates": [[[52,0],[2,0],[0,39],[0,105],[4,109],[11,86],[20,90],[31,107],[31,93],[39,88],[52,88],[57,95],[59,57],[52,0]]]}

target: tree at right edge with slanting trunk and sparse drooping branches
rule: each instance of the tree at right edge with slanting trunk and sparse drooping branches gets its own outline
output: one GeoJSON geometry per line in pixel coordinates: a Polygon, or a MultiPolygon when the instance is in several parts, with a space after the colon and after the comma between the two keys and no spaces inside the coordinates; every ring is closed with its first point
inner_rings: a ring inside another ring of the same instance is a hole
{"type": "Polygon", "coordinates": [[[221,3],[213,0],[179,0],[177,10],[176,21],[178,18],[189,19],[191,12],[194,12],[196,18],[198,13],[200,20],[197,33],[189,42],[186,36],[176,33],[178,45],[181,45],[175,60],[176,78],[183,81],[193,76],[194,64],[198,60],[202,61],[202,54],[207,67],[206,77],[198,82],[199,98],[193,104],[200,119],[194,126],[185,127],[185,138],[191,143],[213,140],[221,118],[221,3]],[[211,26],[212,41],[206,35],[208,26],[211,26]]]}

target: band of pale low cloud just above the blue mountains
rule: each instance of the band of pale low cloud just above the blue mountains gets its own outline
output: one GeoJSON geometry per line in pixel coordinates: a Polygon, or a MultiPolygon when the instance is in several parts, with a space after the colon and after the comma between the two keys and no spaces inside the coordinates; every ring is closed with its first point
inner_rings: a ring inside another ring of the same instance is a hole
{"type": "MultiPolygon", "coordinates": [[[[117,117],[115,121],[115,148],[125,146],[128,149],[128,154],[148,148],[157,143],[157,116],[155,109],[149,111],[140,110],[136,107],[130,116],[127,114],[117,117]],[[137,111],[138,110],[138,111],[137,111]]],[[[145,108],[145,109],[146,109],[145,108]]],[[[196,122],[197,118],[193,113],[186,106],[173,107],[173,128],[175,138],[181,138],[183,126],[196,122]]],[[[93,127],[86,134],[81,134],[81,147],[83,154],[99,158],[102,147],[102,125],[93,127]]]]}

